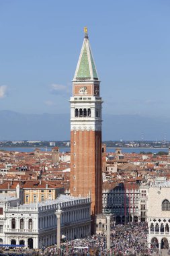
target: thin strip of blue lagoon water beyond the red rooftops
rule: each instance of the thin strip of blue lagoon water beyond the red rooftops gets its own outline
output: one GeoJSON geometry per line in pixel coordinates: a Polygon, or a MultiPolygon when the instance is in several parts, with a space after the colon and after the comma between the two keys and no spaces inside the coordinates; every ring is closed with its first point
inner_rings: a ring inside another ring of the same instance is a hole
{"type": "MultiPolygon", "coordinates": [[[[34,152],[35,148],[0,148],[0,150],[17,151],[17,152],[34,152]]],[[[50,152],[52,148],[40,148],[41,151],[50,152]]],[[[70,148],[59,148],[60,152],[70,152],[70,148]]],[[[107,152],[115,152],[116,148],[107,148],[107,152]]],[[[158,153],[160,151],[168,152],[168,148],[121,148],[122,153],[140,153],[152,152],[158,153]]]]}

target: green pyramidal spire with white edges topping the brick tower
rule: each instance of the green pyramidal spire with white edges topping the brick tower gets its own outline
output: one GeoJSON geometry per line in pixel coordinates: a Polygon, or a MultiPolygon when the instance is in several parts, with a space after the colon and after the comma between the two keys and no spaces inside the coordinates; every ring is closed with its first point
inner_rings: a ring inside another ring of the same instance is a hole
{"type": "Polygon", "coordinates": [[[79,56],[79,61],[77,63],[77,69],[75,71],[74,80],[98,80],[97,71],[95,68],[95,62],[93,60],[93,55],[91,53],[91,48],[89,44],[89,38],[87,35],[87,28],[85,27],[85,38],[83,41],[83,46],[81,48],[81,53],[79,56]]]}

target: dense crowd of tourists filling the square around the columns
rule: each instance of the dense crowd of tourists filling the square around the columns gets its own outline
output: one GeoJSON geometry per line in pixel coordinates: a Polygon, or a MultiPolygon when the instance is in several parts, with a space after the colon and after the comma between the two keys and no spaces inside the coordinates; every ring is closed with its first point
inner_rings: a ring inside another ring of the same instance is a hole
{"type": "MultiPolygon", "coordinates": [[[[76,239],[62,243],[60,249],[56,246],[46,248],[45,255],[152,255],[154,249],[148,249],[147,226],[143,223],[117,225],[111,232],[110,245],[107,251],[105,234],[95,234],[87,238],[76,239]]],[[[155,253],[157,253],[155,249],[155,253]]]]}

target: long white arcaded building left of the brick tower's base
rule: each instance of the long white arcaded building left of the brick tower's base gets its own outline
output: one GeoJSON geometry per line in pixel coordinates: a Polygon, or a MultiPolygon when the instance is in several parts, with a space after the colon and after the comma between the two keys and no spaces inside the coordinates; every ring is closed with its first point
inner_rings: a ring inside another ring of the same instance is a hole
{"type": "Polygon", "coordinates": [[[56,243],[56,210],[62,210],[61,236],[67,240],[88,236],[91,232],[90,198],[60,195],[57,199],[19,205],[19,199],[0,197],[0,243],[24,244],[40,249],[56,243]]]}

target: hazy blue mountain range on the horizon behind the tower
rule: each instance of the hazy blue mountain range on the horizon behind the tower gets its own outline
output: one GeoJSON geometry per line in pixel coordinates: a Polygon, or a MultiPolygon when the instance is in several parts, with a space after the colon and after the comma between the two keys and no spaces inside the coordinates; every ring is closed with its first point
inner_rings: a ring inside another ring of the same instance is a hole
{"type": "MultiPolygon", "coordinates": [[[[103,140],[170,139],[170,120],[140,115],[103,115],[103,140]]],[[[69,140],[69,114],[0,111],[0,140],[69,140]]]]}

